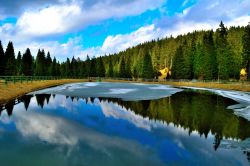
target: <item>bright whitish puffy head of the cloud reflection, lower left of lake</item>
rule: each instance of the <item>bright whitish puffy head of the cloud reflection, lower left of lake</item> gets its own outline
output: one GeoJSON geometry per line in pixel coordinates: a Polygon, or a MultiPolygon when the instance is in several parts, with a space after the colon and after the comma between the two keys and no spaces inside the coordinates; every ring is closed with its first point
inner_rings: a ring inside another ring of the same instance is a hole
{"type": "Polygon", "coordinates": [[[61,118],[29,112],[28,115],[16,114],[15,122],[17,130],[24,137],[38,137],[52,144],[75,145],[78,141],[61,118]]]}

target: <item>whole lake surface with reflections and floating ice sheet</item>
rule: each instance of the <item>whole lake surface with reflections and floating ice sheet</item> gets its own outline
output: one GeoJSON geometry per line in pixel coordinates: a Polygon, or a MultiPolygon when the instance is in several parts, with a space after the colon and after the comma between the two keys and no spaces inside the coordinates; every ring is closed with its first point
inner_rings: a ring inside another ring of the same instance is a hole
{"type": "Polygon", "coordinates": [[[10,101],[0,165],[249,165],[250,122],[205,91],[68,84],[10,101]]]}

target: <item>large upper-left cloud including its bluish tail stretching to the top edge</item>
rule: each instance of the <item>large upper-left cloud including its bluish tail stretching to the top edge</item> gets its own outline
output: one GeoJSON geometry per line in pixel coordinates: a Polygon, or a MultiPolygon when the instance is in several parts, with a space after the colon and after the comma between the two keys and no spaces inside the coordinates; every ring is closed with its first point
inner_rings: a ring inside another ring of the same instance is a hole
{"type": "Polygon", "coordinates": [[[106,0],[85,5],[85,2],[73,1],[71,4],[26,11],[16,26],[19,33],[31,37],[72,32],[102,20],[138,15],[162,3],[163,0],[137,0],[119,5],[115,0],[106,0]]]}

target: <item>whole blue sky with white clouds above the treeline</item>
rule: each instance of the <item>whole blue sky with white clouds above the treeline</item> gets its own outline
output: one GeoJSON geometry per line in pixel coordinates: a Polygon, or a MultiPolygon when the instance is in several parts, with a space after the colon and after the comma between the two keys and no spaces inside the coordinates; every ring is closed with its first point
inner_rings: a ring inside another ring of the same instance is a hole
{"type": "Polygon", "coordinates": [[[0,40],[60,61],[100,56],[152,39],[247,25],[250,0],[0,0],[0,40]],[[15,9],[15,10],[13,10],[15,9]]]}

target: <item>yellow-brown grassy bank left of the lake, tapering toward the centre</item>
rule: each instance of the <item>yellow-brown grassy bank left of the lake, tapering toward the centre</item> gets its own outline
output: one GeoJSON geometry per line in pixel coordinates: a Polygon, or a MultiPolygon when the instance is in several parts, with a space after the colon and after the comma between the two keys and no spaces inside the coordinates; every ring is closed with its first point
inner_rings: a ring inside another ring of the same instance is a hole
{"type": "Polygon", "coordinates": [[[44,80],[44,81],[32,81],[23,83],[4,83],[0,84],[0,104],[6,103],[7,101],[22,96],[26,93],[32,92],[34,90],[43,89],[51,86],[61,85],[65,83],[74,82],[86,82],[83,79],[62,79],[62,80],[44,80]]]}

